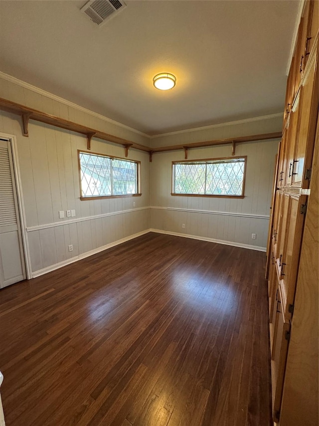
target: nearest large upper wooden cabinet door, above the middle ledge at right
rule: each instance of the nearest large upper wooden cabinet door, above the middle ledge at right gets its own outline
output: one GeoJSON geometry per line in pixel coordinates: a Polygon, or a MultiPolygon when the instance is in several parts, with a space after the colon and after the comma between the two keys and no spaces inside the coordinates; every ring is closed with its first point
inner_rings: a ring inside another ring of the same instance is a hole
{"type": "Polygon", "coordinates": [[[309,187],[309,177],[305,175],[305,172],[311,169],[318,115],[317,65],[318,55],[312,55],[301,87],[299,133],[292,167],[292,186],[294,187],[309,187]]]}

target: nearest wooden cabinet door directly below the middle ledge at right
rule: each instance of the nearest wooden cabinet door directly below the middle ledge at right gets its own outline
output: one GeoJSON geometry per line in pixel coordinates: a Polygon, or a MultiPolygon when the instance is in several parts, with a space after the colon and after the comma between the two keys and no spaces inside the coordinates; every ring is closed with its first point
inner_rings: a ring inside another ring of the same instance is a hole
{"type": "Polygon", "coordinates": [[[306,201],[306,195],[291,195],[289,197],[285,251],[279,270],[282,308],[287,321],[291,319],[292,312],[290,306],[293,306],[295,298],[300,246],[305,219],[302,206],[306,205],[306,201]]]}

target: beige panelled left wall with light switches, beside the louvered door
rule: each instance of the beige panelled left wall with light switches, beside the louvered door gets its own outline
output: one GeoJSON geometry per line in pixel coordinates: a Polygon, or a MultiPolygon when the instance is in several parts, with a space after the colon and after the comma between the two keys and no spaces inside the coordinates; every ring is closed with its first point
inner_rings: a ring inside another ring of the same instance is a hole
{"type": "MultiPolygon", "coordinates": [[[[144,136],[7,81],[0,80],[0,97],[134,139],[138,143],[145,142],[144,136]]],[[[150,163],[147,153],[134,149],[129,151],[129,159],[141,161],[141,197],[81,201],[77,150],[86,150],[85,136],[30,120],[29,137],[23,137],[21,119],[3,111],[0,111],[0,132],[15,135],[17,139],[33,274],[150,228],[150,163]],[[59,210],[71,209],[75,209],[76,217],[59,219],[59,210]],[[69,244],[73,245],[72,252],[68,251],[69,244]]],[[[94,138],[91,149],[124,157],[122,146],[94,138]]]]}

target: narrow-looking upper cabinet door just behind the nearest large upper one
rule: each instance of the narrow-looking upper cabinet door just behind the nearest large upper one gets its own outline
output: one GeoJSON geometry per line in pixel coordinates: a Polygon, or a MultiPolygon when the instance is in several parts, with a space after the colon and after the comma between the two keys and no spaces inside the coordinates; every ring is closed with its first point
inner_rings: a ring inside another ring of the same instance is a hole
{"type": "Polygon", "coordinates": [[[292,173],[294,168],[294,158],[297,146],[297,135],[299,128],[299,94],[296,96],[294,107],[290,113],[290,132],[286,156],[286,170],[285,170],[285,186],[291,185],[292,173]]]}

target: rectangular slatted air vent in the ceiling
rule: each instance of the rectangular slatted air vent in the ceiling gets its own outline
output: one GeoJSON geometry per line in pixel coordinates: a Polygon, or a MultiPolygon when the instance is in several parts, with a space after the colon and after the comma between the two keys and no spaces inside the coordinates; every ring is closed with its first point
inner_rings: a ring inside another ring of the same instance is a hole
{"type": "Polygon", "coordinates": [[[81,8],[94,23],[101,26],[112,16],[124,9],[126,4],[122,0],[90,0],[81,8]]]}

